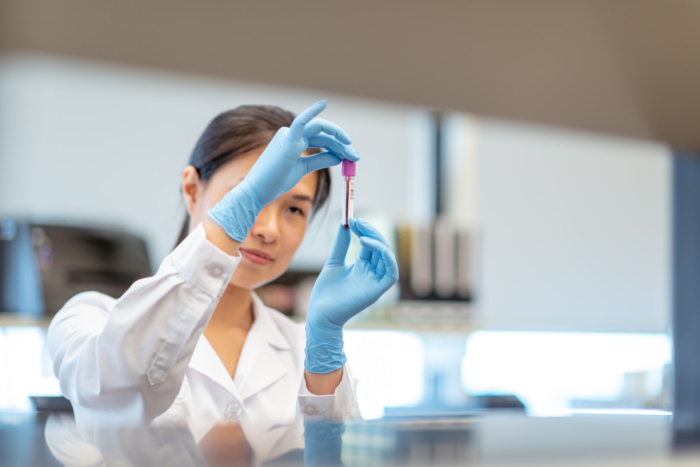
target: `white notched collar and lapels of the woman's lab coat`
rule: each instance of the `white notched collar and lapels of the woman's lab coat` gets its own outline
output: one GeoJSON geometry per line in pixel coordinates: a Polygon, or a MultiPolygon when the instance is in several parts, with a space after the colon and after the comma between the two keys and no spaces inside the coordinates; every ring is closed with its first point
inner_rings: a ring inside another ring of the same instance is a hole
{"type": "Polygon", "coordinates": [[[273,313],[276,311],[267,307],[258,295],[253,293],[255,321],[241,349],[234,379],[231,379],[204,334],[197,342],[190,360],[190,368],[209,377],[241,400],[284,377],[287,368],[280,361],[278,353],[288,351],[291,347],[275,323],[273,313]]]}

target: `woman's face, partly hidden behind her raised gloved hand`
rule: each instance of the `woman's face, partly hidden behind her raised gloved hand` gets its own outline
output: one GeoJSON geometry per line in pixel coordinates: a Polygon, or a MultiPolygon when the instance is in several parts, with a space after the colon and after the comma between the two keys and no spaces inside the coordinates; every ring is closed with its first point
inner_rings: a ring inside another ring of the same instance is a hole
{"type": "MultiPolygon", "coordinates": [[[[191,208],[188,205],[191,228],[207,219],[207,211],[244,179],[260,154],[262,149],[235,158],[219,167],[206,185],[200,184],[197,199],[191,208]]],[[[260,211],[241,244],[243,258],[233,273],[231,285],[252,289],[286,271],[304,238],[317,184],[318,174],[311,172],[260,211]]]]}

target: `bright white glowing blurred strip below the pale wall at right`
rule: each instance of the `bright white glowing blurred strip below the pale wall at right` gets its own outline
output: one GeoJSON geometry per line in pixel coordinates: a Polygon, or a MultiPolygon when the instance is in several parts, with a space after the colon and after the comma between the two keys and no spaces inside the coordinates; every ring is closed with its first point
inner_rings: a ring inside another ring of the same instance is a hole
{"type": "Polygon", "coordinates": [[[577,403],[649,407],[662,399],[670,364],[666,334],[477,331],[467,339],[461,375],[466,393],[514,394],[529,414],[555,415],[577,403]]]}

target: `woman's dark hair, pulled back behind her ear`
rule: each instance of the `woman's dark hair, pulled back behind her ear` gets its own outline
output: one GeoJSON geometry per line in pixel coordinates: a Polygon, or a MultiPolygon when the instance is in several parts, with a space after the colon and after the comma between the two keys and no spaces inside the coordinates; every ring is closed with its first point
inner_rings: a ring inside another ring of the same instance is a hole
{"type": "MultiPolygon", "coordinates": [[[[240,106],[221,113],[211,120],[190,155],[189,165],[197,169],[200,181],[206,183],[226,162],[261,148],[269,143],[281,127],[288,127],[294,114],[276,106],[240,106]]],[[[309,148],[308,153],[318,153],[309,148]]],[[[313,214],[323,206],[330,194],[330,171],[318,170],[316,195],[311,205],[313,214]]],[[[311,214],[313,216],[313,214],[311,214]]],[[[190,219],[186,216],[177,244],[190,232],[190,219]]]]}

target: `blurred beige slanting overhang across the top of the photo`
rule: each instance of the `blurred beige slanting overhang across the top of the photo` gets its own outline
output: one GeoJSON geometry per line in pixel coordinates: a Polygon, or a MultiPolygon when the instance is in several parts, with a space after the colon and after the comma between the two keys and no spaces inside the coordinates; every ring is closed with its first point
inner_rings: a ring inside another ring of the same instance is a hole
{"type": "Polygon", "coordinates": [[[0,48],[700,148],[700,1],[0,0],[0,48]]]}

